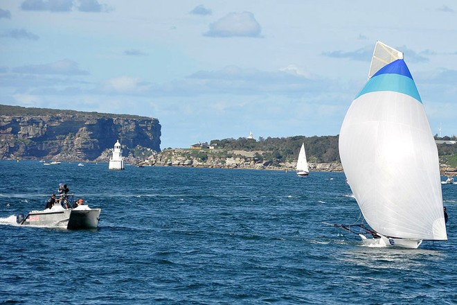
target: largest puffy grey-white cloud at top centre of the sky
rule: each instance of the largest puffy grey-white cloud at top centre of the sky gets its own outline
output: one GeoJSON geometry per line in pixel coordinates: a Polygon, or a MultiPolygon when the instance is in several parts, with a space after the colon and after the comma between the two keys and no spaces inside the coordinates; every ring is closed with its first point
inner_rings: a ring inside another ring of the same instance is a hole
{"type": "Polygon", "coordinates": [[[262,28],[252,12],[231,12],[210,24],[205,36],[210,37],[261,37],[262,28]]]}

